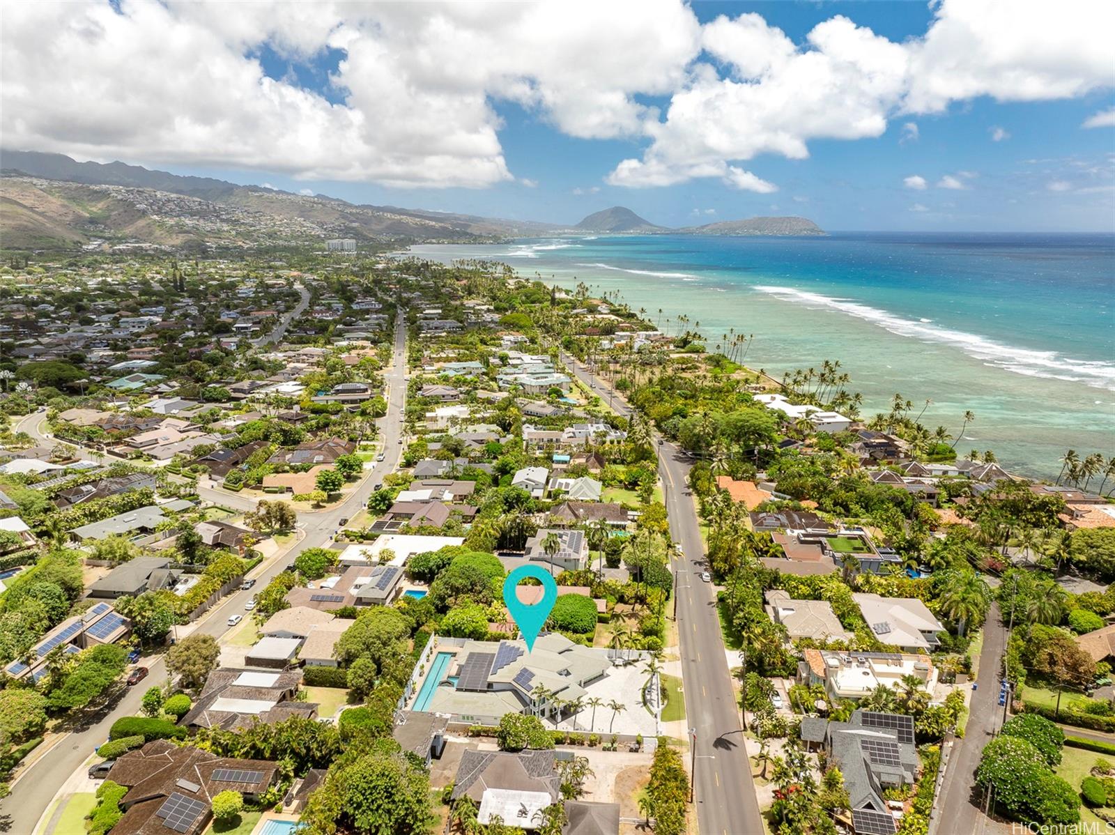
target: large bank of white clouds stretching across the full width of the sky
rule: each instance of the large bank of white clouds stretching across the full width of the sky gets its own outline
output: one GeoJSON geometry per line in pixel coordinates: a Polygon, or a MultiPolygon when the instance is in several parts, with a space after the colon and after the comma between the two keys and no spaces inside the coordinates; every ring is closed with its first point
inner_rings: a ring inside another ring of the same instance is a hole
{"type": "MultiPolygon", "coordinates": [[[[0,132],[79,158],[485,187],[515,179],[496,110],[511,101],[569,136],[643,140],[610,183],[767,194],[744,165],[763,154],[805,158],[811,140],[878,137],[892,119],[910,137],[911,117],[979,96],[1111,86],[1115,3],[1069,0],[1054,18],[1037,0],[941,0],[922,37],[837,14],[802,43],[754,13],[701,27],[681,0],[575,7],[8,2],[0,132]],[[294,62],[341,50],[329,98],[266,77],[264,47],[294,62]]],[[[1115,124],[1115,108],[1092,123],[1115,124]]]]}

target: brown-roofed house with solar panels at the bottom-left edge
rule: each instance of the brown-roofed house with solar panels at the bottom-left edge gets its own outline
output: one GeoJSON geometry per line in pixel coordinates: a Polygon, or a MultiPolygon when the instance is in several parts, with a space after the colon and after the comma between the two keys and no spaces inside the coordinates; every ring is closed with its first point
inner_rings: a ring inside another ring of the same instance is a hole
{"type": "Polygon", "coordinates": [[[256,803],[275,781],[279,765],[219,757],[166,739],[128,751],[113,765],[114,783],[128,790],[114,835],[200,835],[213,817],[213,798],[233,790],[256,803]]]}

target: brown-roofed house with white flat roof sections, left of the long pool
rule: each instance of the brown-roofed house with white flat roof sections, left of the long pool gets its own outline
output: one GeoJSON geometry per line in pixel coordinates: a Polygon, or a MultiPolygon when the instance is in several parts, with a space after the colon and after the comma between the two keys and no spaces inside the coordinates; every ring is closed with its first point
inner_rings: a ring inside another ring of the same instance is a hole
{"type": "Polygon", "coordinates": [[[213,670],[194,706],[182,718],[182,725],[191,730],[243,730],[256,721],[274,725],[294,716],[312,719],[318,706],[295,698],[301,681],[302,672],[298,669],[213,670]]]}

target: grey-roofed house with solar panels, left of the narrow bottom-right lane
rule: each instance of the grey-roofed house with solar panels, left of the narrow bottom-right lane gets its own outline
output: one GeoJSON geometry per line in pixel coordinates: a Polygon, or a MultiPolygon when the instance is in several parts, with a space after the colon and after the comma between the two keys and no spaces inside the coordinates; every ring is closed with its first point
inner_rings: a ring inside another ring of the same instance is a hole
{"type": "Polygon", "coordinates": [[[855,710],[846,722],[802,721],[802,739],[821,745],[840,768],[857,835],[893,835],[898,821],[883,792],[918,780],[913,717],[855,710]]]}

